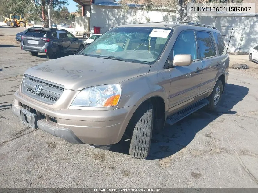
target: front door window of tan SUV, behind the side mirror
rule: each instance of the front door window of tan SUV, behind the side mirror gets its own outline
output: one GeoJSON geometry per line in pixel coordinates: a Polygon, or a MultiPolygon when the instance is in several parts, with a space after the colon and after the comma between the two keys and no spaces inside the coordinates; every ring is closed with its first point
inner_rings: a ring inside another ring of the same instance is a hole
{"type": "Polygon", "coordinates": [[[193,56],[193,60],[197,59],[194,31],[184,31],[180,33],[176,39],[172,52],[173,58],[176,54],[191,54],[193,56]]]}

